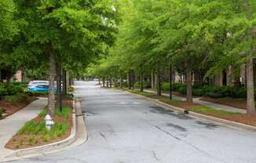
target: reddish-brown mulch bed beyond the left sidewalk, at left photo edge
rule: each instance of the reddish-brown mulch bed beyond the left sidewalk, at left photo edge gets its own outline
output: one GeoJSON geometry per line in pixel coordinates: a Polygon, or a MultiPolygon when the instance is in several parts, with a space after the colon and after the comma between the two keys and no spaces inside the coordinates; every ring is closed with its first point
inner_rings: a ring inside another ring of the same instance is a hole
{"type": "Polygon", "coordinates": [[[0,117],[0,119],[6,118],[16,113],[17,111],[23,109],[34,100],[37,100],[37,98],[33,96],[27,96],[27,100],[24,100],[22,102],[16,102],[16,103],[9,103],[6,100],[0,100],[0,107],[2,107],[5,110],[5,114],[6,114],[0,117]]]}

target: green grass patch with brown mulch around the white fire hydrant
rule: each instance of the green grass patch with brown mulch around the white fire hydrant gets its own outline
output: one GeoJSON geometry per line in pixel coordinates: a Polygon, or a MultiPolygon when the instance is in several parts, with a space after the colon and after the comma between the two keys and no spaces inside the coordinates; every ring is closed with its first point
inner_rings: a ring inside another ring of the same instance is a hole
{"type": "Polygon", "coordinates": [[[46,122],[44,117],[48,114],[48,110],[43,109],[38,118],[27,121],[27,123],[17,132],[16,137],[13,137],[13,147],[20,149],[20,147],[33,146],[35,144],[42,144],[42,142],[48,143],[52,140],[59,139],[71,128],[70,121],[68,120],[71,114],[71,107],[63,107],[63,111],[60,112],[56,107],[54,110],[54,124],[48,131],[46,129],[46,122]]]}

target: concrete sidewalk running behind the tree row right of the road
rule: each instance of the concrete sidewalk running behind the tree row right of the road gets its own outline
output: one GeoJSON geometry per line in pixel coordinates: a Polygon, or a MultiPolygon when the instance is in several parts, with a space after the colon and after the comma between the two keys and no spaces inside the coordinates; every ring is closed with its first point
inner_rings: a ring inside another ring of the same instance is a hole
{"type": "MultiPolygon", "coordinates": [[[[155,91],[152,91],[152,90],[144,90],[144,92],[156,93],[155,91]]],[[[162,93],[162,95],[163,96],[170,96],[170,94],[168,94],[168,93],[162,93]]],[[[186,100],[186,98],[182,97],[182,96],[172,95],[172,97],[174,98],[174,100],[186,100]]],[[[200,99],[200,97],[193,98],[193,101],[195,103],[199,103],[199,104],[207,106],[207,107],[214,107],[214,109],[217,109],[217,110],[227,110],[227,111],[239,112],[239,113],[246,114],[246,110],[243,110],[243,109],[240,109],[240,108],[237,108],[237,107],[229,107],[229,106],[226,106],[226,105],[221,105],[221,104],[218,104],[218,103],[210,103],[210,102],[199,100],[199,99],[200,99]]]]}

